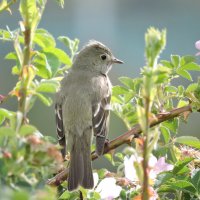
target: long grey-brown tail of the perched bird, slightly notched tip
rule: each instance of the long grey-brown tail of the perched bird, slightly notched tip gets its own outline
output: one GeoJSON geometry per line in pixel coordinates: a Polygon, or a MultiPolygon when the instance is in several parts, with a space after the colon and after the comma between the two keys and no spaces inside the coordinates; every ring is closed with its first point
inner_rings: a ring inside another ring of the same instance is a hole
{"type": "Polygon", "coordinates": [[[70,152],[68,190],[72,191],[79,185],[86,189],[94,186],[89,135],[74,136],[74,144],[70,152]]]}

